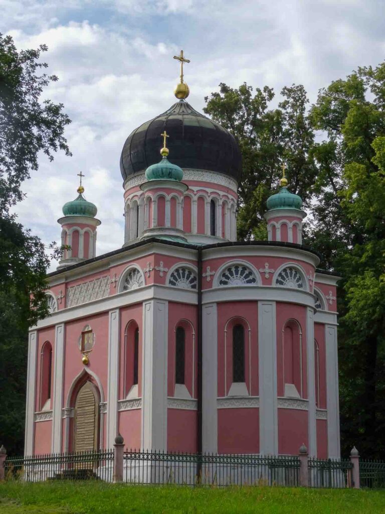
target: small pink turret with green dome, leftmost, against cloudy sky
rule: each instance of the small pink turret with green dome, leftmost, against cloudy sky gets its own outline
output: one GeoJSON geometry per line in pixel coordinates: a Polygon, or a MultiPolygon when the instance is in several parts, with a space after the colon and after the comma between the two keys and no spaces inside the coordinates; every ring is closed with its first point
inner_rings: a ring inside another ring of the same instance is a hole
{"type": "Polygon", "coordinates": [[[101,222],[95,218],[97,207],[83,196],[82,177],[84,175],[80,173],[79,176],[80,186],[77,189],[79,196],[64,204],[64,216],[57,220],[57,223],[62,226],[62,246],[70,247],[63,251],[63,258],[57,269],[92,259],[96,254],[97,227],[101,222]]]}

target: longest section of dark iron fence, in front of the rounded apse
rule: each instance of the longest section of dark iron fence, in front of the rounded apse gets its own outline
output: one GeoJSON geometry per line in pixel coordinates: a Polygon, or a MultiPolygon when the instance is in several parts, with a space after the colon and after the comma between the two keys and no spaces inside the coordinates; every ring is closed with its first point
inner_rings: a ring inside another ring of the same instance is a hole
{"type": "Polygon", "coordinates": [[[130,484],[299,485],[296,456],[126,450],[123,462],[123,479],[130,484]]]}

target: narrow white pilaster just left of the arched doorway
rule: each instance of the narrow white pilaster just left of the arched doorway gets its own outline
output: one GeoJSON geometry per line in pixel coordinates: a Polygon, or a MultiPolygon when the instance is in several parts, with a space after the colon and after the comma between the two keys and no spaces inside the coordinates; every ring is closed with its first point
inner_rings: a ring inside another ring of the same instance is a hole
{"type": "Polygon", "coordinates": [[[52,452],[62,451],[62,405],[64,372],[64,323],[55,326],[53,401],[52,401],[52,452]]]}

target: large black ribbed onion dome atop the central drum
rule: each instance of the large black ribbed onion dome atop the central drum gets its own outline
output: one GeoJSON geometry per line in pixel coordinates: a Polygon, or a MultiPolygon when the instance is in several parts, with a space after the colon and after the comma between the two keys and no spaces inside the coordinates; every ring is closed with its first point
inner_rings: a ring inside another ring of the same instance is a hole
{"type": "Polygon", "coordinates": [[[161,133],[166,131],[170,162],[180,168],[217,171],[239,179],[241,153],[234,136],[219,123],[198,113],[185,100],[134,130],[120,158],[122,177],[159,162],[161,133]]]}

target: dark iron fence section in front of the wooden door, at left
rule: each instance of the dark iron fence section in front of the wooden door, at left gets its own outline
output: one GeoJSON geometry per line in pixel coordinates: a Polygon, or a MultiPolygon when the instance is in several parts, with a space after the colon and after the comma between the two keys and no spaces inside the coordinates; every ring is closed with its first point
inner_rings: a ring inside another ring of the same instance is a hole
{"type": "Polygon", "coordinates": [[[112,482],[113,462],[113,450],[9,457],[4,463],[4,475],[5,480],[21,482],[65,479],[112,482]]]}

